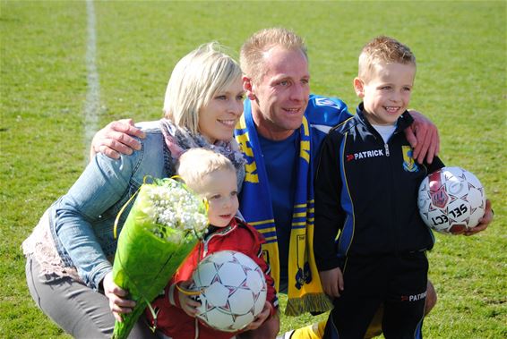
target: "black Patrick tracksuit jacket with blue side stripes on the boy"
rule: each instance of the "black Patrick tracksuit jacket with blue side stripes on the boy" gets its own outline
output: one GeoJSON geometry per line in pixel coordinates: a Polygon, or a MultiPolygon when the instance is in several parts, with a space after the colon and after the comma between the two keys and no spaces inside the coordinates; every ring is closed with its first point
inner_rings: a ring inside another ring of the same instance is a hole
{"type": "Polygon", "coordinates": [[[348,256],[431,250],[432,231],[417,208],[420,182],[443,167],[420,165],[403,130],[408,112],[388,143],[357,114],[335,126],[322,143],[315,178],[314,253],[319,270],[342,267],[348,256]],[[339,234],[338,240],[336,240],[339,234]]]}

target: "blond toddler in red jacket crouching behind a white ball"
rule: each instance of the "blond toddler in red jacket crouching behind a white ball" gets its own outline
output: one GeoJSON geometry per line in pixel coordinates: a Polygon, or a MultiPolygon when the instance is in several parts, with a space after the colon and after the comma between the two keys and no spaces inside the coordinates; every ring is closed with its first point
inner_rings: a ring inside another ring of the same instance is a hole
{"type": "MultiPolygon", "coordinates": [[[[156,325],[159,332],[174,339],[226,339],[234,336],[197,321],[196,308],[200,303],[185,293],[185,288],[202,258],[219,250],[236,250],[253,258],[264,271],[268,284],[268,295],[262,312],[269,313],[269,318],[264,322],[255,319],[246,327],[249,331],[244,335],[249,338],[274,338],[279,331],[279,318],[276,315],[278,299],[273,279],[269,275],[270,269],[262,258],[262,235],[236,217],[238,200],[234,165],[227,157],[210,149],[191,148],[179,158],[177,173],[190,189],[207,201],[210,226],[202,242],[178,268],[165,295],[152,303],[157,312],[156,325]]],[[[150,311],[146,314],[153,326],[150,311]]]]}

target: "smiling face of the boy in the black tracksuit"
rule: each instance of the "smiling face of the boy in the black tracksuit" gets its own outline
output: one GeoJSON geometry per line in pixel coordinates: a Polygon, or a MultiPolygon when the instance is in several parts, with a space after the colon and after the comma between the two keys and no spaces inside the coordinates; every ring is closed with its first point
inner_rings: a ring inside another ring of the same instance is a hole
{"type": "Polygon", "coordinates": [[[357,96],[363,99],[370,123],[392,125],[408,107],[416,66],[379,63],[374,69],[367,81],[356,78],[354,88],[357,96]]]}

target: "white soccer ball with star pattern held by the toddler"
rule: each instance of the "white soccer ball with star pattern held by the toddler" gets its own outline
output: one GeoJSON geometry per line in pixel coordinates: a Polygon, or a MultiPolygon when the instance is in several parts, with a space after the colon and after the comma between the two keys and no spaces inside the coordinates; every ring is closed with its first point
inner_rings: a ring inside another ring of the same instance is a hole
{"type": "Polygon", "coordinates": [[[192,275],[193,289],[201,291],[197,318],[225,332],[248,326],[261,313],[267,284],[252,258],[222,250],[204,258],[192,275]]]}

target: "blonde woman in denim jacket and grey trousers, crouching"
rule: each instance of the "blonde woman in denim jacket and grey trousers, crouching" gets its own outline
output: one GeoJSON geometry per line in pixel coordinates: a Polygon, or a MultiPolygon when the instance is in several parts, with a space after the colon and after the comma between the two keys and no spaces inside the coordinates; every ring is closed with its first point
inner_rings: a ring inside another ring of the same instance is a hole
{"type": "MultiPolygon", "coordinates": [[[[216,44],[181,59],[168,82],[165,118],[142,123],[142,148],[117,160],[95,157],[73,187],[47,209],[23,242],[30,294],[39,308],[74,337],[110,337],[115,318],[133,301],[112,280],[113,224],[145,175],[175,174],[187,148],[212,148],[245,177],[244,158],[232,138],[243,112],[239,65],[216,44]]],[[[128,210],[122,214],[123,225],[128,210]]],[[[142,320],[131,337],[154,337],[142,320]]]]}

